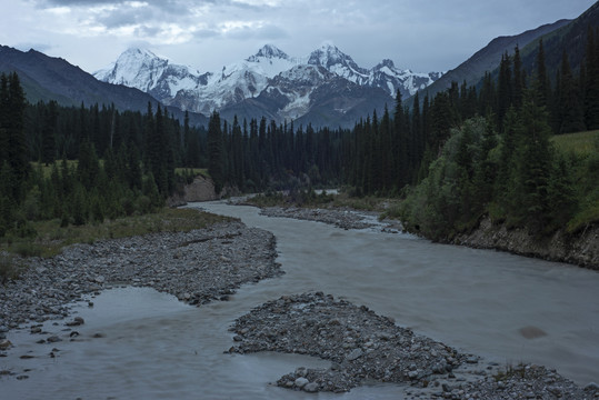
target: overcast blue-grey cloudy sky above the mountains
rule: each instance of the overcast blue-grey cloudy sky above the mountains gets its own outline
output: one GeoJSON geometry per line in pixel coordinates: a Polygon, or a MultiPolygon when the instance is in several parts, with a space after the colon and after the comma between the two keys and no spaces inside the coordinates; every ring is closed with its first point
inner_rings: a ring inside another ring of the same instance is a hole
{"type": "Polygon", "coordinates": [[[498,36],[573,19],[593,0],[1,0],[0,44],[93,72],[130,47],[219,70],[266,43],[303,57],[332,42],[361,67],[452,69],[498,36]]]}

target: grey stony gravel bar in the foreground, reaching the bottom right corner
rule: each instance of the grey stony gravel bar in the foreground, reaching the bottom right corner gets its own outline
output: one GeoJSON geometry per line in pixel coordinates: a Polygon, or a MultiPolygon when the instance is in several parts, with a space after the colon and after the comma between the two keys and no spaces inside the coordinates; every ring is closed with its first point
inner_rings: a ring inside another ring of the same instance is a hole
{"type": "Polygon", "coordinates": [[[485,363],[443,343],[400,328],[332,296],[305,293],[269,301],[231,328],[230,352],[279,351],[320,357],[329,369],[301,366],[277,384],[307,392],[349,391],[371,381],[409,386],[412,399],[593,399],[599,387],[581,389],[538,366],[485,363]]]}

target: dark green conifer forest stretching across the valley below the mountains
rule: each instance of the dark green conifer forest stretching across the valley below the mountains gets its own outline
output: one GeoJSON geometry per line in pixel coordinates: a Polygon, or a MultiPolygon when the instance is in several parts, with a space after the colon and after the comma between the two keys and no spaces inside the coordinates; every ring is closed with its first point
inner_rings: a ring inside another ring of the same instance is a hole
{"type": "Polygon", "coordinates": [[[353,129],[278,124],[264,118],[190,127],[166,109],[27,103],[17,73],[0,87],[0,236],[34,236],[29,221],[83,224],[151,212],[207,169],[217,192],[346,186],[353,196],[401,197],[407,226],[443,239],[481,216],[549,234],[599,221],[599,143],[558,151],[552,137],[599,129],[599,32],[585,62],[565,52],[555,77],[522,69],[519,49],[497,77],[417,93],[353,129]]]}

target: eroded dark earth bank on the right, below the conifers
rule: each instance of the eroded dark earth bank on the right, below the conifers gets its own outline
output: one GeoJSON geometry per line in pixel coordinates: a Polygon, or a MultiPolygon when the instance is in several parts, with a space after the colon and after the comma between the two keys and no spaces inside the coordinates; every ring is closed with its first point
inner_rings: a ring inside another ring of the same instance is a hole
{"type": "Polygon", "coordinates": [[[577,234],[567,234],[559,230],[551,238],[538,239],[527,229],[508,230],[503,224],[493,226],[487,217],[473,232],[460,234],[452,242],[599,270],[598,226],[588,227],[577,234]]]}

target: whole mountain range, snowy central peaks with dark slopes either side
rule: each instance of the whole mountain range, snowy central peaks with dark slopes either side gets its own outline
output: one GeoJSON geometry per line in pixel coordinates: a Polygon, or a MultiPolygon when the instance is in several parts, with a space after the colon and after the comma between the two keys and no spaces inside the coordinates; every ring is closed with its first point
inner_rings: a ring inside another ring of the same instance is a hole
{"type": "Polygon", "coordinates": [[[194,126],[207,126],[208,116],[218,110],[229,121],[233,116],[266,117],[278,122],[293,120],[305,126],[351,128],[373,110],[391,108],[398,90],[405,104],[411,104],[408,97],[417,90],[428,92],[432,99],[451,81],[477,84],[486,71],[497,70],[501,54],[511,54],[516,44],[527,71],[535,68],[541,39],[550,77],[557,72],[563,51],[576,70],[583,60],[587,30],[598,26],[599,2],[573,21],[560,20],[517,36],[496,38],[445,73],[415,73],[397,68],[391,60],[365,69],[330,43],[302,58],[290,57],[267,44],[218,72],[200,72],[149,50],[129,49],[113,64],[94,74],[61,58],[0,46],[0,72],[17,71],[32,103],[40,100],[74,107],[113,103],[121,111],[141,112],[146,112],[148,103],[154,110],[162,103],[181,121],[188,111],[194,126]]]}

